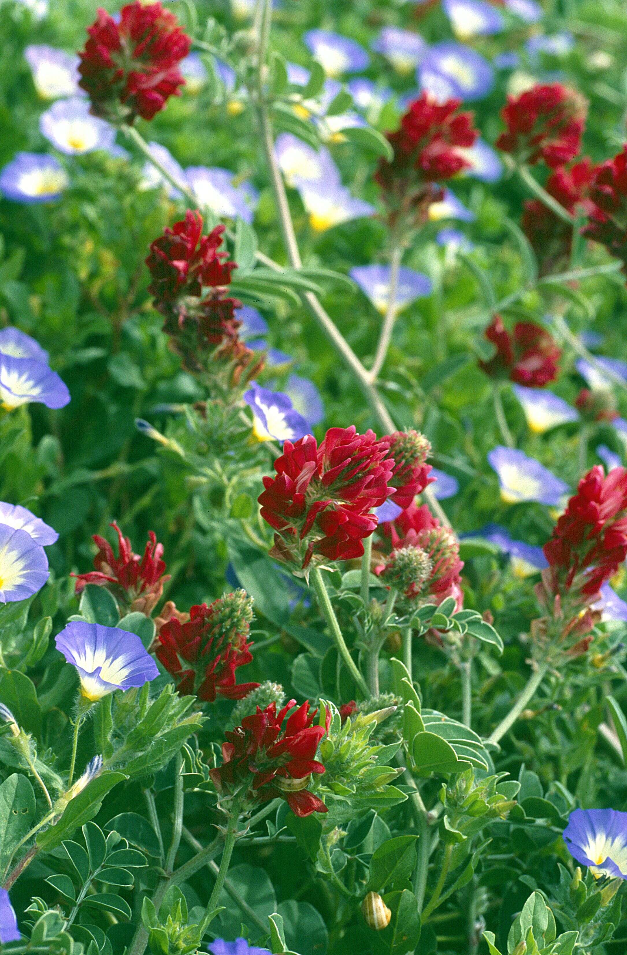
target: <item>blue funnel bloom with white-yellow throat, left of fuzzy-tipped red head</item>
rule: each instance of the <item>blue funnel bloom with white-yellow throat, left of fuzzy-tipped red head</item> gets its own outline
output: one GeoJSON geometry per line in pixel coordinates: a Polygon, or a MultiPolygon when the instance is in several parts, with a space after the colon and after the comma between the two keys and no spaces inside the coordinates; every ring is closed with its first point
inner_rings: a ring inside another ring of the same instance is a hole
{"type": "Polygon", "coordinates": [[[114,690],[143,687],[159,675],[139,637],[117,626],[75,620],[54,642],[78,671],[81,694],[88,700],[99,700],[114,690]]]}

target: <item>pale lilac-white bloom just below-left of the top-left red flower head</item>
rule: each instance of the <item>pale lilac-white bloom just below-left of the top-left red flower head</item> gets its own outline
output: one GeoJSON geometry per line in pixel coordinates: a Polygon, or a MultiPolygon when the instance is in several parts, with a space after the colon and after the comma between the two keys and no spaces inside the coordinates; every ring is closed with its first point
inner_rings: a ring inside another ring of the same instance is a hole
{"type": "Polygon", "coordinates": [[[82,156],[113,146],[115,129],[90,113],[89,99],[59,99],[39,117],[39,131],[55,149],[68,156],[82,156]]]}

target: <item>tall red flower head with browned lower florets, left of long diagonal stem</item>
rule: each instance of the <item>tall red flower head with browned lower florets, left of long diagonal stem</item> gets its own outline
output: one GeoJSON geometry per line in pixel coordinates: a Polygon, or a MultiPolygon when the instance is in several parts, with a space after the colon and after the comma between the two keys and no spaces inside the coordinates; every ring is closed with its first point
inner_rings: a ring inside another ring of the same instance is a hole
{"type": "Polygon", "coordinates": [[[188,210],[184,220],[166,228],[151,244],[146,259],[152,279],[148,290],[184,367],[204,371],[203,358],[209,353],[232,369],[231,383],[237,384],[244,370],[246,377],[260,371],[260,363],[239,337],[241,323],[235,311],[241,303],[227,294],[237,265],[228,252],[219,251],[223,233],[224,226],[217,225],[202,235],[202,216],[188,210]]]}

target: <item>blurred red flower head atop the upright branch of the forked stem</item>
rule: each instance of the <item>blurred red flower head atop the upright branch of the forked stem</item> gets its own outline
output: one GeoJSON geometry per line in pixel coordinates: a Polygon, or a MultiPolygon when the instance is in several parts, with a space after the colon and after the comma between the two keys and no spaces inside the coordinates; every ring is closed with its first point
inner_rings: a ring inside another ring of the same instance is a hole
{"type": "Polygon", "coordinates": [[[420,224],[431,202],[442,199],[437,185],[456,176],[468,162],[457,151],[479,133],[471,113],[458,113],[460,99],[439,103],[427,92],[409,104],[401,127],[387,138],[394,158],[381,159],[375,179],[384,191],[390,223],[420,224]]]}

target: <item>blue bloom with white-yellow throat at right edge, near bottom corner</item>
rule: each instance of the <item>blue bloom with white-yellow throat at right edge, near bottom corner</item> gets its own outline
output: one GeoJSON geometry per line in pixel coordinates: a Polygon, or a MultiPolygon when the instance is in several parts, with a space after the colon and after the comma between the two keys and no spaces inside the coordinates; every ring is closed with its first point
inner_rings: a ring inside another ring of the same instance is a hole
{"type": "Polygon", "coordinates": [[[627,879],[627,813],[575,809],[563,836],[571,856],[594,876],[627,879]]]}

